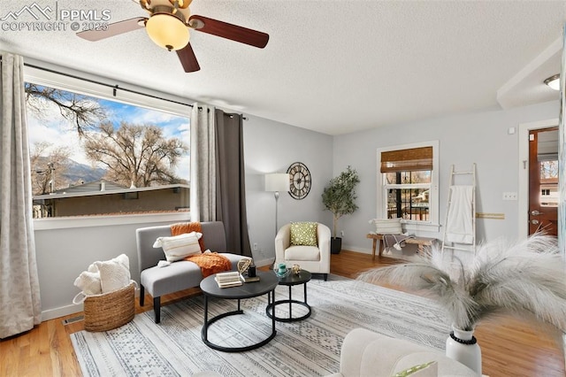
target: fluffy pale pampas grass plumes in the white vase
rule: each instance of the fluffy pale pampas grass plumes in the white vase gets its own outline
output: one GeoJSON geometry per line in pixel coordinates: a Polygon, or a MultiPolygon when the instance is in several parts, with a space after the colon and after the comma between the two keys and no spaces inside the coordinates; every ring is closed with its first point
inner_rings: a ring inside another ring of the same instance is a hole
{"type": "Polygon", "coordinates": [[[433,247],[426,256],[366,271],[358,279],[430,296],[446,310],[451,325],[462,330],[501,314],[566,330],[566,264],[555,237],[486,242],[465,259],[444,254],[433,247]]]}

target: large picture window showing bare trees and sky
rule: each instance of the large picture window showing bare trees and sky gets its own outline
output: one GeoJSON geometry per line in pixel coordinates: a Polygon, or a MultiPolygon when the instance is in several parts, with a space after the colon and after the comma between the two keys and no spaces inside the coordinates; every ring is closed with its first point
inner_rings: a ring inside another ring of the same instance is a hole
{"type": "Polygon", "coordinates": [[[26,96],[34,219],[189,211],[187,106],[31,80],[26,96]]]}

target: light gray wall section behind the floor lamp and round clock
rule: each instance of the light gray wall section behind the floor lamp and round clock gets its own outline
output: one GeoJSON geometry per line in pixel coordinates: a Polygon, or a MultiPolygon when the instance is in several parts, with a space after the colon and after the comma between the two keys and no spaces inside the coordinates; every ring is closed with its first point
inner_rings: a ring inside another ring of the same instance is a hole
{"type": "Polygon", "coordinates": [[[257,243],[256,264],[267,265],[275,259],[275,197],[264,191],[264,174],[287,173],[297,161],[307,165],[312,176],[310,193],[302,200],[279,193],[279,227],[303,220],[330,226],[332,214],[324,211],[321,195],[332,178],[333,137],[249,117],[244,121],[244,148],[249,242],[252,247],[257,243]]]}

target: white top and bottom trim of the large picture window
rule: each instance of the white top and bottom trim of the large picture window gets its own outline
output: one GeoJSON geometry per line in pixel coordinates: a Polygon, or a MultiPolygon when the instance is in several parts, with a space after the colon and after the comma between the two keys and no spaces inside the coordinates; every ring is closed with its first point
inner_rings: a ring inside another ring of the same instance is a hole
{"type": "MultiPolygon", "coordinates": [[[[61,69],[63,71],[63,69],[61,69]]],[[[24,65],[24,81],[37,85],[49,86],[72,91],[84,96],[94,96],[105,100],[132,104],[158,112],[167,112],[190,119],[190,106],[186,98],[167,95],[149,88],[136,88],[134,85],[116,82],[115,86],[105,85],[109,81],[102,77],[84,74],[66,75],[50,68],[43,69],[34,65],[24,65]],[[134,91],[120,90],[133,88],[134,91]],[[144,94],[142,94],[144,93],[144,94]]],[[[190,181],[189,181],[190,185],[190,181]]],[[[176,222],[190,219],[190,212],[179,213],[138,213],[126,215],[100,215],[85,217],[59,217],[33,219],[35,230],[65,229],[74,227],[108,227],[124,224],[151,224],[156,222],[176,222]]]]}

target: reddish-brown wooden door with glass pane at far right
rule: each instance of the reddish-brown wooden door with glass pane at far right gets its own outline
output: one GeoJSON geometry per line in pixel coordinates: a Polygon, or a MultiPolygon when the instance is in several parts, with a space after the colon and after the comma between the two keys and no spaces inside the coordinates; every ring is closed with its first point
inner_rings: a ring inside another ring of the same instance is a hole
{"type": "Polygon", "coordinates": [[[558,127],[529,131],[529,235],[558,235],[558,127]]]}

